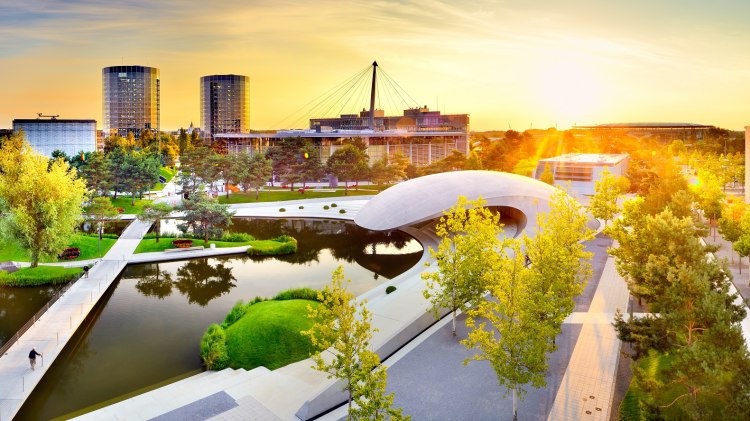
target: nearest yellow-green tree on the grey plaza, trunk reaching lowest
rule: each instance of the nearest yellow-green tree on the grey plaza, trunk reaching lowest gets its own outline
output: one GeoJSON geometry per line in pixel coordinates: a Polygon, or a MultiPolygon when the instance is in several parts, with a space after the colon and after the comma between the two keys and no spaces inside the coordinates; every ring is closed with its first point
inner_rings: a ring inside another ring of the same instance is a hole
{"type": "Polygon", "coordinates": [[[486,256],[489,260],[485,264],[490,267],[486,285],[491,299],[467,311],[466,325],[471,330],[462,343],[476,348],[472,359],[488,361],[506,394],[513,394],[513,419],[517,420],[517,400],[523,399],[524,386],[546,384],[546,353],[553,333],[550,325],[537,317],[539,303],[529,287],[533,275],[525,267],[520,242],[508,240],[506,245],[510,255],[503,248],[502,255],[486,256]]]}

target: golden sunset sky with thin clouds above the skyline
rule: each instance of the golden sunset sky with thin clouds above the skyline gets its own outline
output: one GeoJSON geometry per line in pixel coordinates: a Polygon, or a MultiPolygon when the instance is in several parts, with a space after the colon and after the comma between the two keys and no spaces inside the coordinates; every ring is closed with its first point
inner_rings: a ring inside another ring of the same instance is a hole
{"type": "Polygon", "coordinates": [[[747,0],[0,0],[0,17],[0,128],[101,127],[101,69],[120,64],[160,69],[163,130],[199,126],[199,79],[224,73],[250,76],[251,128],[304,127],[373,60],[473,130],[750,125],[747,0]]]}

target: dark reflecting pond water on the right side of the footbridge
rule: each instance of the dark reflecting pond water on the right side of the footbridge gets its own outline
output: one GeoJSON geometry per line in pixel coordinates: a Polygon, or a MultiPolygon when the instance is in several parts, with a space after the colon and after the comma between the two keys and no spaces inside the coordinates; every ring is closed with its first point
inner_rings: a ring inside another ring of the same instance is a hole
{"type": "Polygon", "coordinates": [[[344,266],[354,294],[406,271],[422,246],[402,232],[351,222],[235,219],[256,238],[289,234],[298,252],[130,265],[102,298],[21,408],[18,419],[69,417],[201,370],[199,342],[239,300],[322,288],[344,266]]]}

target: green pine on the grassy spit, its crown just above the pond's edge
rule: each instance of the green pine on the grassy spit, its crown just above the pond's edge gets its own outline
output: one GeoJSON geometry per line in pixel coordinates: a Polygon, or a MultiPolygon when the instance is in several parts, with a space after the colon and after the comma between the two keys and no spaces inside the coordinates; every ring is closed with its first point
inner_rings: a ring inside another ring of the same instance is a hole
{"type": "Polygon", "coordinates": [[[223,227],[232,225],[234,215],[229,206],[220,204],[202,191],[183,200],[176,209],[185,212],[185,223],[177,227],[183,232],[192,229],[195,235],[203,237],[203,244],[208,244],[209,237],[221,237],[223,227]]]}

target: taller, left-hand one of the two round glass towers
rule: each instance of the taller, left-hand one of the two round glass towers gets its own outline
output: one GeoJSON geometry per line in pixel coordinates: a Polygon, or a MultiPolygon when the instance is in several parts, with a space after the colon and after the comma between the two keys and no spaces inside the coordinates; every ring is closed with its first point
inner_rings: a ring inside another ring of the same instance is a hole
{"type": "Polygon", "coordinates": [[[104,135],[127,136],[141,130],[159,131],[159,69],[111,66],[102,69],[104,135]]]}

